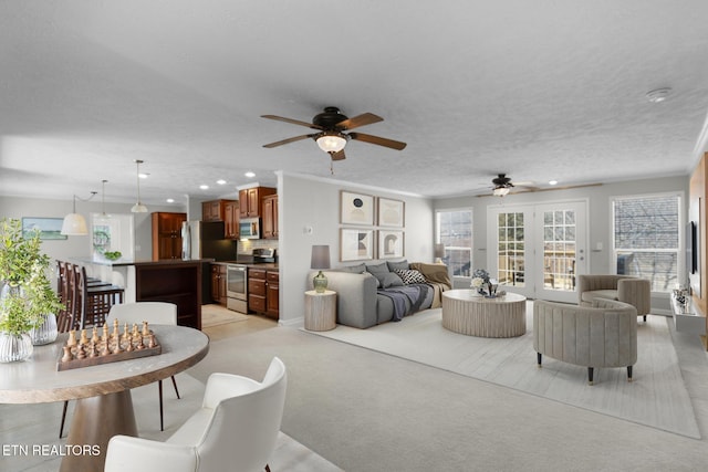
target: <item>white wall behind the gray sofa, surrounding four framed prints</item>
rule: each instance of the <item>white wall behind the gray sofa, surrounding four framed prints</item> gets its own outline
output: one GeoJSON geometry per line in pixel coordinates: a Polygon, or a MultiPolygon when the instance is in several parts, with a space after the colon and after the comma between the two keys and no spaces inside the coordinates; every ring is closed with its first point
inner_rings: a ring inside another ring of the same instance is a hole
{"type": "Polygon", "coordinates": [[[433,261],[431,200],[386,189],[278,172],[282,324],[301,323],[304,316],[312,245],[329,244],[332,265],[344,265],[340,262],[340,190],[403,200],[406,220],[404,258],[412,262],[433,261]],[[312,228],[312,233],[308,233],[306,228],[312,228]]]}

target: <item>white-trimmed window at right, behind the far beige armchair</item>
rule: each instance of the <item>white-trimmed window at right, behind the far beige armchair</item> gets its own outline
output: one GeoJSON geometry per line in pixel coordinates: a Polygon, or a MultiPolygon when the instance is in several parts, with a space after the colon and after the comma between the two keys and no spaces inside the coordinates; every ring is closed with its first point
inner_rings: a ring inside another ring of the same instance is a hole
{"type": "Polygon", "coordinates": [[[653,292],[675,287],[684,240],[680,204],[677,193],[613,199],[613,269],[617,274],[648,279],[653,292]]]}

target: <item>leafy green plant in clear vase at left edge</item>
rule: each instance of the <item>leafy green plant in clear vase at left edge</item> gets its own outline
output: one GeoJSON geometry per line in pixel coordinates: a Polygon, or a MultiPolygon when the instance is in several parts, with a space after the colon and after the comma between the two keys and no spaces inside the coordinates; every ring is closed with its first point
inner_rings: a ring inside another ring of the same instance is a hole
{"type": "Polygon", "coordinates": [[[62,308],[46,276],[50,259],[40,245],[39,230],[25,238],[20,220],[0,221],[0,361],[28,358],[29,332],[62,308]]]}

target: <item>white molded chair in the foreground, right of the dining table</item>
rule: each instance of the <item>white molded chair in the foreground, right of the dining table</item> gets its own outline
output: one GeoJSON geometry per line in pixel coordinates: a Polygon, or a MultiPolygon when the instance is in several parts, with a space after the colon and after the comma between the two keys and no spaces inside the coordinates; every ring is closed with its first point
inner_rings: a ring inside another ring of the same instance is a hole
{"type": "Polygon", "coordinates": [[[270,470],[285,403],[285,366],[274,357],[262,382],[211,374],[201,408],[166,442],[114,436],[105,472],[270,470]]]}

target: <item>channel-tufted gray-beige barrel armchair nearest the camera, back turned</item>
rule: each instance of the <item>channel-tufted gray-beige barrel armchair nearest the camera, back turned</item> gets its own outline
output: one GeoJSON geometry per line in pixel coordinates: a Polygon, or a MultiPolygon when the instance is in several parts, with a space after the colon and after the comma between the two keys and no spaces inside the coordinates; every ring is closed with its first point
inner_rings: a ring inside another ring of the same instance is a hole
{"type": "Polygon", "coordinates": [[[626,367],[637,360],[637,311],[613,300],[595,298],[592,306],[568,305],[541,300],[533,302],[533,349],[541,367],[546,355],[564,363],[587,367],[593,384],[595,367],[626,367]]]}

